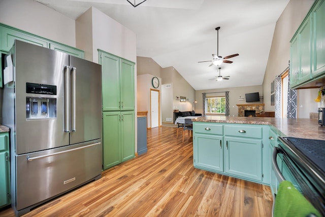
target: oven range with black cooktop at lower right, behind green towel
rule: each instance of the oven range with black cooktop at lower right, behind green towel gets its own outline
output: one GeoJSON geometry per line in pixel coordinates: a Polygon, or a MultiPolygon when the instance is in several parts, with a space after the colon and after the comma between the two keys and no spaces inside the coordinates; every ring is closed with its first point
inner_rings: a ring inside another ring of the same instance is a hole
{"type": "Polygon", "coordinates": [[[278,137],[272,163],[278,182],[293,183],[325,216],[325,140],[278,137]]]}

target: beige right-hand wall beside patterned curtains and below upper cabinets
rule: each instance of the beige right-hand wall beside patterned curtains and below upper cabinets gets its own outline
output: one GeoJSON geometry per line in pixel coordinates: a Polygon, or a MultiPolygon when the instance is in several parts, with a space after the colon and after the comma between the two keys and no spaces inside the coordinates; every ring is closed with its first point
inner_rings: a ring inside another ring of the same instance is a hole
{"type": "MultiPolygon", "coordinates": [[[[271,106],[270,99],[271,82],[288,66],[290,40],[313,3],[313,0],[291,0],[276,23],[263,81],[266,110],[274,111],[274,106],[271,106]]],[[[317,111],[317,103],[313,100],[316,96],[317,89],[298,91],[298,118],[309,118],[310,112],[317,111]]]]}

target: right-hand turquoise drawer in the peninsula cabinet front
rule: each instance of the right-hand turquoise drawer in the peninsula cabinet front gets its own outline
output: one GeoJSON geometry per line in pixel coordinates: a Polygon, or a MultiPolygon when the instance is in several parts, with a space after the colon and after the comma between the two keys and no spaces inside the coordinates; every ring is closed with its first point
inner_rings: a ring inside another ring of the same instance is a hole
{"type": "Polygon", "coordinates": [[[224,135],[246,138],[262,138],[262,126],[224,126],[224,135]]]}

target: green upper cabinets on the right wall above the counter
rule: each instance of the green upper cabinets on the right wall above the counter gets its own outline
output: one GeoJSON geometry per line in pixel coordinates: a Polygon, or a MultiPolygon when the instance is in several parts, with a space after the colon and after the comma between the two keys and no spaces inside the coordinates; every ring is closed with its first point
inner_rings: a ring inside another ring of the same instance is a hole
{"type": "Polygon", "coordinates": [[[290,88],[315,87],[325,76],[325,0],[316,0],[290,41],[290,88]]]}

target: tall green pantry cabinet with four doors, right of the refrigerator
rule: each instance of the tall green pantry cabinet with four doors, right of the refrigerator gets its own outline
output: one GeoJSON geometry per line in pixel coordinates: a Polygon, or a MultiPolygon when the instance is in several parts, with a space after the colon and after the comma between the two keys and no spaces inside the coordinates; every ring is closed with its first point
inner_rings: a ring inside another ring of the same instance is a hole
{"type": "Polygon", "coordinates": [[[99,50],[103,88],[103,169],[135,157],[135,63],[99,50]]]}

